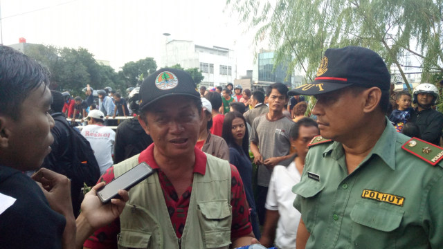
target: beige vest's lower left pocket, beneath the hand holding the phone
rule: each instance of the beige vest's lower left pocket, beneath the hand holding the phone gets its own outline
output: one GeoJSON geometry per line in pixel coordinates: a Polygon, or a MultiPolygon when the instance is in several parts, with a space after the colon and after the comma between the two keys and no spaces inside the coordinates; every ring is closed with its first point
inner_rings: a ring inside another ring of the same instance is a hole
{"type": "Polygon", "coordinates": [[[118,249],[147,248],[150,239],[150,232],[122,229],[118,236],[118,249]]]}

